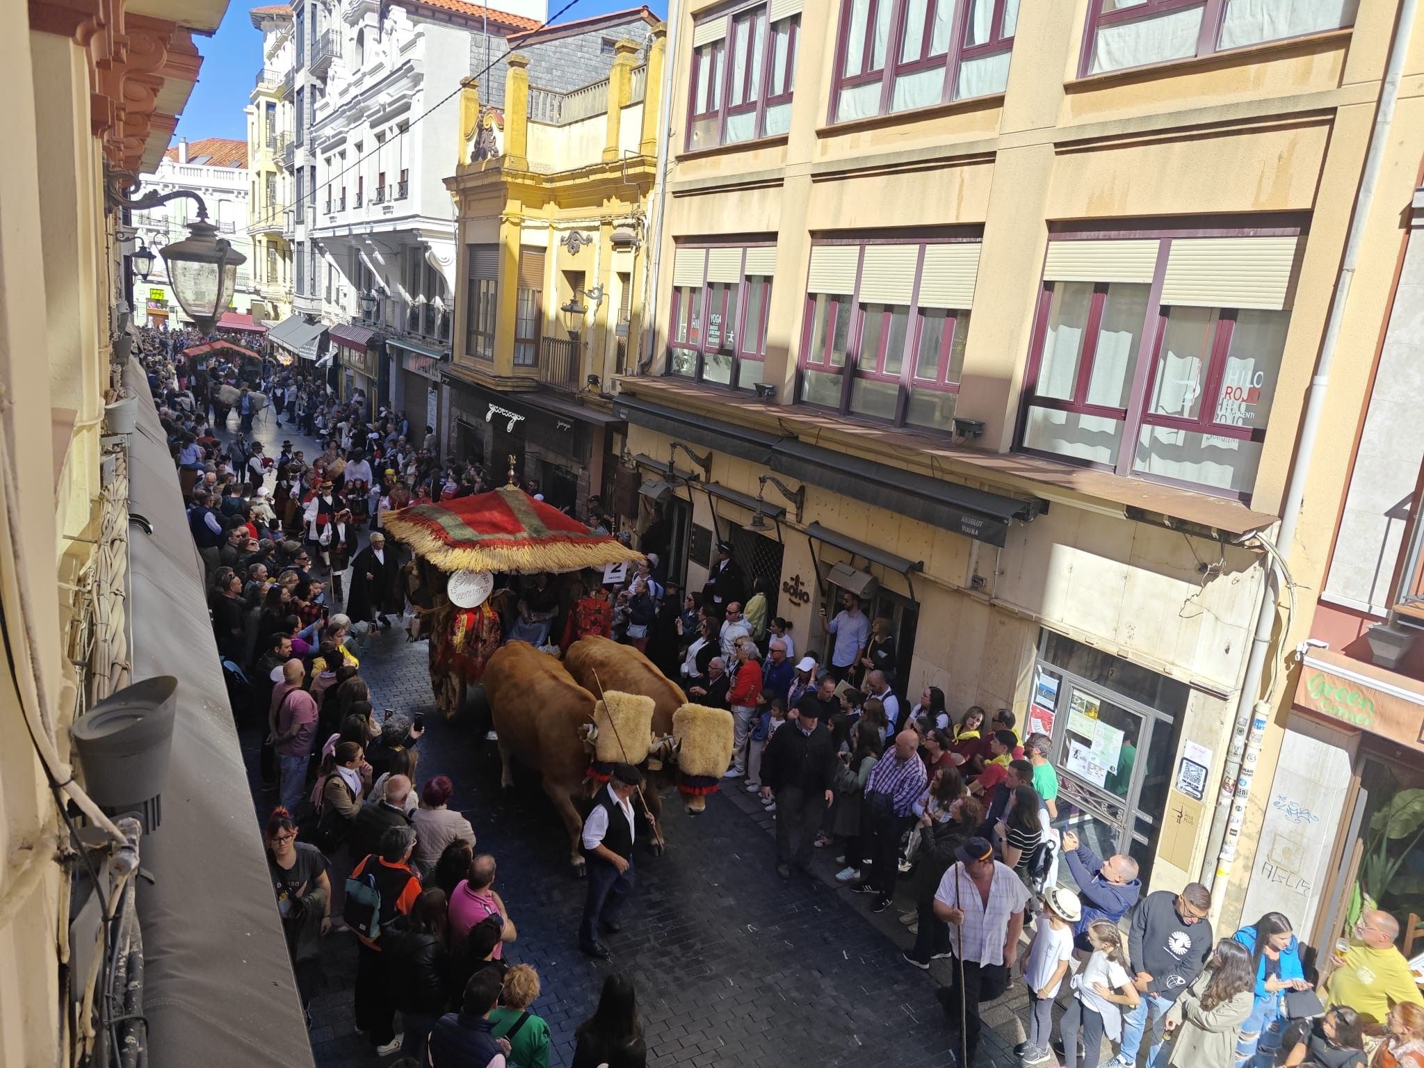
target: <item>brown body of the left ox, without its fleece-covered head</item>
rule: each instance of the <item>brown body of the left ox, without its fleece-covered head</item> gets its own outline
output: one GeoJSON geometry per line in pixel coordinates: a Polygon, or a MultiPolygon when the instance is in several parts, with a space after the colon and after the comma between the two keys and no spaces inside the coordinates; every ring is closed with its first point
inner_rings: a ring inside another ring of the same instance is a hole
{"type": "MultiPolygon", "coordinates": [[[[544,793],[568,829],[570,863],[582,874],[580,803],[588,799],[584,738],[594,722],[594,695],[557,659],[520,641],[507,642],[490,656],[481,682],[500,736],[500,785],[514,785],[514,758],[543,775],[544,793]]],[[[654,850],[659,847],[661,833],[655,833],[654,850]]]]}

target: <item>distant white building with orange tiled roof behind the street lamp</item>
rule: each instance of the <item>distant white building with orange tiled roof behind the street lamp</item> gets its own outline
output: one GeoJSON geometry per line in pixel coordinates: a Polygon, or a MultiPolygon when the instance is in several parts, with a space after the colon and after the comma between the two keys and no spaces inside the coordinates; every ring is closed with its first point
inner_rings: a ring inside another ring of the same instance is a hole
{"type": "MultiPolygon", "coordinates": [[[[189,189],[208,205],[208,221],[218,226],[221,236],[246,256],[238,268],[238,285],[229,310],[248,313],[256,289],[253,288],[252,241],[248,236],[248,145],[224,137],[199,141],[179,138],[164,152],[157,172],[145,175],[144,192],[172,192],[189,189]]],[[[157,259],[148,279],[134,279],[135,319],[150,326],[189,326],[168,285],[167,265],[158,256],[165,245],[188,236],[188,224],[197,219],[198,205],[182,197],[157,208],[135,211],[132,226],[157,259]],[[147,319],[144,318],[147,315],[147,319]]]]}

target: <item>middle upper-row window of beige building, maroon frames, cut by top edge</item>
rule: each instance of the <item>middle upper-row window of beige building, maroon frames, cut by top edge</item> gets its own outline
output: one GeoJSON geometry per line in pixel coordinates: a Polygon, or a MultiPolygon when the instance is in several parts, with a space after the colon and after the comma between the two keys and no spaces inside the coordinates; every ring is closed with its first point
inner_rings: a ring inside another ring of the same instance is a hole
{"type": "Polygon", "coordinates": [[[1018,4],[842,0],[832,122],[1002,93],[1018,4]]]}

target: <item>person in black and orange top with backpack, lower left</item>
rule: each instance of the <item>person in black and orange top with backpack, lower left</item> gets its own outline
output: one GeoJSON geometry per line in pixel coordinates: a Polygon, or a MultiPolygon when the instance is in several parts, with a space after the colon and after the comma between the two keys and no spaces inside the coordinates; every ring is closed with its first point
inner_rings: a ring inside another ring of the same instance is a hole
{"type": "MultiPolygon", "coordinates": [[[[389,1057],[400,1048],[396,1034],[396,1005],[390,997],[389,965],[383,938],[397,916],[409,916],[420,896],[420,880],[410,870],[416,832],[409,824],[387,827],[380,837],[380,852],[357,862],[346,879],[346,904],[342,918],[360,940],[356,957],[356,1028],[389,1057]]],[[[493,998],[490,1004],[493,1007],[493,998]]],[[[488,1010],[486,1010],[488,1011],[488,1010]]]]}

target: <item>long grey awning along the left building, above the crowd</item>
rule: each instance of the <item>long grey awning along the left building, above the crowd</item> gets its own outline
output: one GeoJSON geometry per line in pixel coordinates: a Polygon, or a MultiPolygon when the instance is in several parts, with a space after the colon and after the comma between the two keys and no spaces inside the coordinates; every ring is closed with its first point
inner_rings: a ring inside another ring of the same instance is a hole
{"type": "Polygon", "coordinates": [[[178,679],[162,823],[144,836],[138,881],[144,1018],[152,1068],[310,1065],[262,833],[218,666],[202,561],[184,515],[168,441],[137,360],[130,507],[135,679],[178,679]],[[201,907],[194,907],[201,903],[201,907]],[[234,997],[241,991],[241,997],[234,997]]]}

